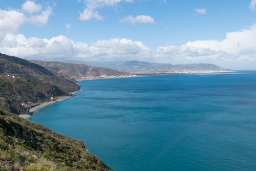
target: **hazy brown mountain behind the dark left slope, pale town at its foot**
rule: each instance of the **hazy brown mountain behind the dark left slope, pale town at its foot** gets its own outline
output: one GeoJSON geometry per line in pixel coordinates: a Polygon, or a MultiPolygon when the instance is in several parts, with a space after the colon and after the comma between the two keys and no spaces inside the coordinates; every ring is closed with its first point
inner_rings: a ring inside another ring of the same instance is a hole
{"type": "Polygon", "coordinates": [[[129,72],[115,71],[107,68],[91,67],[84,64],[40,60],[31,60],[31,62],[45,67],[52,72],[56,72],[61,75],[67,75],[77,80],[101,77],[129,77],[132,75],[129,72]]]}

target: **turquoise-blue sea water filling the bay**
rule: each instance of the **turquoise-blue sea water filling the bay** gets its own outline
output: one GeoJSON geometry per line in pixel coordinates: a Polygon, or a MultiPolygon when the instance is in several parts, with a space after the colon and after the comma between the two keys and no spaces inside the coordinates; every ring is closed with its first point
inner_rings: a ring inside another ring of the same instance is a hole
{"type": "Polygon", "coordinates": [[[80,81],[32,121],[115,170],[255,170],[256,72],[80,81]]]}

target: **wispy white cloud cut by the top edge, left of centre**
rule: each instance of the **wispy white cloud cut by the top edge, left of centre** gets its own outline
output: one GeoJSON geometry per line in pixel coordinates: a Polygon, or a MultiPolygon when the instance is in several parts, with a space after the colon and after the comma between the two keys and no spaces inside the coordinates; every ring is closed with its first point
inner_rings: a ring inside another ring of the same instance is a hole
{"type": "Polygon", "coordinates": [[[83,12],[79,12],[79,19],[89,20],[95,18],[101,20],[103,17],[97,11],[98,8],[113,7],[121,2],[133,3],[133,0],[84,0],[83,2],[86,4],[86,8],[84,8],[83,12]]]}

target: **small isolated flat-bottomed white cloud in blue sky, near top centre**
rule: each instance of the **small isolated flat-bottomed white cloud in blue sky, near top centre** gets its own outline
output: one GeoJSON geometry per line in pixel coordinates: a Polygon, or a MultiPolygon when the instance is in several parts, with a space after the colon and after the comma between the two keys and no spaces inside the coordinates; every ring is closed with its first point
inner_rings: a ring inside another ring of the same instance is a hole
{"type": "Polygon", "coordinates": [[[155,19],[149,15],[137,15],[136,17],[130,15],[120,19],[122,23],[134,24],[155,24],[155,19]]]}

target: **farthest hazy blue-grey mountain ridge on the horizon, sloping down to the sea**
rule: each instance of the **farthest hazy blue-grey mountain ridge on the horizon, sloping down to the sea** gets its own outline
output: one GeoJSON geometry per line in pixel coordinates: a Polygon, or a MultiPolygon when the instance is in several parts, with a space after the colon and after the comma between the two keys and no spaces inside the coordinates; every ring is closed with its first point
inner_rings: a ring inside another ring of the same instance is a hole
{"type": "Polygon", "coordinates": [[[207,73],[207,72],[230,72],[225,69],[209,63],[193,63],[187,65],[172,65],[169,63],[152,63],[132,61],[108,61],[108,62],[85,62],[95,67],[106,67],[113,70],[131,72],[136,74],[152,73],[207,73]]]}

